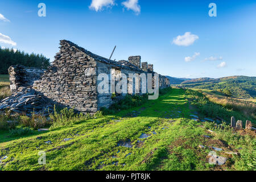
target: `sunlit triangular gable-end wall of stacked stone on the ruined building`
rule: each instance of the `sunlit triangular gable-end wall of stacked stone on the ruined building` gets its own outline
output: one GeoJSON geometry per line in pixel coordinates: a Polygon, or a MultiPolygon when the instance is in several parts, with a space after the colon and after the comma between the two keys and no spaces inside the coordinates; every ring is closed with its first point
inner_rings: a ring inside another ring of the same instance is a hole
{"type": "Polygon", "coordinates": [[[96,80],[96,61],[75,44],[61,40],[55,61],[33,88],[60,104],[95,113],[96,80]]]}

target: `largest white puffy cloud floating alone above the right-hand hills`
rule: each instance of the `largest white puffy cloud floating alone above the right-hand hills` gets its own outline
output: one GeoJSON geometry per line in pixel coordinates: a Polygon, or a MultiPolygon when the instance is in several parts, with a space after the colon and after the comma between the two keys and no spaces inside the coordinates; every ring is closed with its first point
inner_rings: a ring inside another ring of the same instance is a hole
{"type": "Polygon", "coordinates": [[[177,46],[191,46],[197,39],[199,39],[199,36],[191,34],[191,32],[185,32],[184,35],[179,35],[172,43],[176,44],[177,46]]]}

